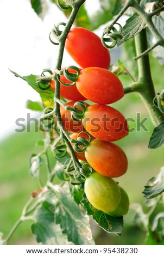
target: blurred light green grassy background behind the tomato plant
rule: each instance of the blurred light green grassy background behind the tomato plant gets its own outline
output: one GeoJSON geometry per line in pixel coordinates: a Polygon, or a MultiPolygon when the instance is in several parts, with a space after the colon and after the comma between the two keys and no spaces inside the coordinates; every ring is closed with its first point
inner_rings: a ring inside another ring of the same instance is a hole
{"type": "MultiPolygon", "coordinates": [[[[130,47],[125,44],[125,47],[130,47]]],[[[130,51],[130,48],[128,48],[130,51]]],[[[125,61],[127,69],[137,74],[136,63],[128,62],[124,56],[121,60],[125,61]]],[[[162,89],[163,67],[158,61],[151,58],[152,76],[156,92],[162,89]],[[160,74],[160,76],[159,76],[160,74]]],[[[124,86],[130,83],[130,78],[120,76],[124,86]]],[[[16,79],[16,78],[15,78],[16,79]]],[[[153,125],[149,118],[146,106],[137,93],[127,94],[119,102],[113,104],[121,111],[126,118],[134,118],[135,122],[129,122],[129,126],[135,130],[129,133],[121,141],[117,142],[128,156],[129,168],[125,175],[117,178],[121,186],[127,191],[130,204],[141,203],[145,212],[148,211],[145,205],[145,199],[142,191],[148,180],[159,173],[160,167],[163,166],[163,148],[148,149],[149,138],[153,132],[153,125]],[[142,128],[140,131],[137,127],[137,113],[141,113],[141,120],[148,117],[144,125],[148,131],[142,128]]],[[[10,229],[21,216],[24,204],[30,197],[31,192],[38,188],[37,180],[32,179],[29,175],[29,157],[32,153],[37,154],[40,151],[39,146],[35,146],[36,141],[43,138],[39,132],[35,132],[34,126],[31,126],[30,132],[18,132],[10,135],[0,145],[0,231],[7,236],[10,229]]],[[[51,155],[51,153],[49,153],[51,155]]],[[[51,156],[52,164],[54,159],[51,156]]],[[[44,179],[45,167],[41,167],[42,179],[44,179]]],[[[9,243],[11,245],[32,245],[35,244],[33,235],[31,235],[30,224],[24,222],[18,227],[9,243]]],[[[97,245],[144,245],[146,243],[146,232],[137,227],[131,220],[131,215],[124,217],[124,230],[121,237],[113,234],[107,234],[100,229],[94,221],[91,221],[93,237],[97,245]]]]}

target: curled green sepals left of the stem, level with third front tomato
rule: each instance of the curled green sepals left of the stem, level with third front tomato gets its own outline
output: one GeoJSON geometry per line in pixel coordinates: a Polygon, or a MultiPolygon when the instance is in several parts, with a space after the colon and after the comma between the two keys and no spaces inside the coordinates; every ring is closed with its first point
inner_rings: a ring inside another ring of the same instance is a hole
{"type": "MultiPolygon", "coordinates": [[[[48,114],[48,113],[51,113],[52,111],[53,109],[51,107],[47,107],[45,108],[44,113],[48,114]]],[[[51,131],[52,129],[54,129],[55,123],[54,123],[53,115],[51,117],[42,118],[40,121],[41,121],[42,131],[51,131]]]]}

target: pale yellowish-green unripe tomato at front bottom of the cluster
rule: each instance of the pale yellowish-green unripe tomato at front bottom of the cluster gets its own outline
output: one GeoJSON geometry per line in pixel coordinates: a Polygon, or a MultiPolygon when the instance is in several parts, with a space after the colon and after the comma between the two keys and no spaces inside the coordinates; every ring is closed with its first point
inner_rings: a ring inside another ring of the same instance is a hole
{"type": "Polygon", "coordinates": [[[98,210],[108,212],[115,210],[121,201],[119,186],[112,179],[92,173],[86,179],[85,194],[89,202],[98,210]]]}

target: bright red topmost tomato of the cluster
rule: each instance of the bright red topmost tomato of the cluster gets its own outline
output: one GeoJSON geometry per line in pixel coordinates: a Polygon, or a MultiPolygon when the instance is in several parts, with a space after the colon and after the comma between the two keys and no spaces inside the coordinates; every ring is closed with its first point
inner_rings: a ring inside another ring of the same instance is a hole
{"type": "Polygon", "coordinates": [[[82,68],[98,66],[109,69],[110,53],[98,35],[86,28],[74,27],[67,35],[66,51],[82,68]]]}

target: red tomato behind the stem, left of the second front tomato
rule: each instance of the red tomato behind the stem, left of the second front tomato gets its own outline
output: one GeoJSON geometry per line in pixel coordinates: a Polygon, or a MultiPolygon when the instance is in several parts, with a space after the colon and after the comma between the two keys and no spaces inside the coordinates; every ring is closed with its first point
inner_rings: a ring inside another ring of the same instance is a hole
{"type": "MultiPolygon", "coordinates": [[[[75,73],[74,69],[68,69],[68,71],[75,73]]],[[[64,83],[72,83],[71,81],[67,80],[67,78],[65,78],[64,75],[60,76],[60,80],[64,83]]],[[[55,81],[53,79],[50,81],[50,86],[51,86],[51,89],[54,91],[55,81]]],[[[60,83],[60,96],[68,100],[75,100],[75,101],[86,100],[85,97],[79,93],[75,84],[74,86],[64,86],[63,84],[60,83]]]]}

